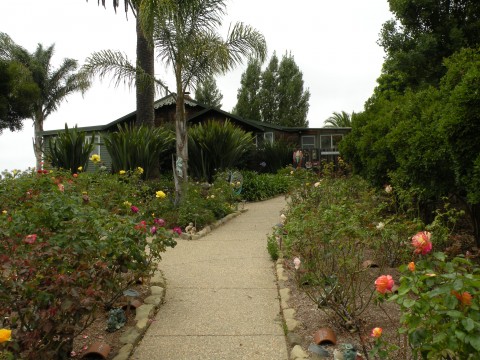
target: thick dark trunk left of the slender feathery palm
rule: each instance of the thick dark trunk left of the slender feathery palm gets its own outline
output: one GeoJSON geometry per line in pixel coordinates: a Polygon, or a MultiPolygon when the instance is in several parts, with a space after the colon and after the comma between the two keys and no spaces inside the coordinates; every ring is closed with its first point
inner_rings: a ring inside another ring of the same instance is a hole
{"type": "MultiPolygon", "coordinates": [[[[140,14],[137,14],[137,66],[141,67],[152,78],[155,75],[154,69],[154,48],[149,44],[140,27],[140,14]]],[[[137,125],[155,126],[155,113],[153,102],[155,97],[155,85],[143,85],[137,80],[137,125]]]]}

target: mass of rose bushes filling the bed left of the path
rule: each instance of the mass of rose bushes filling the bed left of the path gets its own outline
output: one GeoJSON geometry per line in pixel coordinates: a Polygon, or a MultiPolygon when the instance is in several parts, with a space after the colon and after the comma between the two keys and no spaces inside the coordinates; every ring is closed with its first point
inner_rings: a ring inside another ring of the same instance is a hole
{"type": "Polygon", "coordinates": [[[138,181],[56,171],[0,180],[0,327],[13,330],[15,357],[68,357],[96,310],[175,245],[145,212],[158,199],[140,197],[138,181]]]}

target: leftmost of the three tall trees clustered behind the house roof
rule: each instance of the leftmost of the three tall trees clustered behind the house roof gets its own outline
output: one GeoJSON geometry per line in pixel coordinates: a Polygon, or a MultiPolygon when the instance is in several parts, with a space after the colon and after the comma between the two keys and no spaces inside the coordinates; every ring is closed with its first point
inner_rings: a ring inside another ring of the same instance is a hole
{"type": "Polygon", "coordinates": [[[261,63],[258,59],[251,58],[242,74],[240,88],[237,92],[237,105],[233,109],[235,115],[245,119],[260,120],[260,91],[261,63]]]}

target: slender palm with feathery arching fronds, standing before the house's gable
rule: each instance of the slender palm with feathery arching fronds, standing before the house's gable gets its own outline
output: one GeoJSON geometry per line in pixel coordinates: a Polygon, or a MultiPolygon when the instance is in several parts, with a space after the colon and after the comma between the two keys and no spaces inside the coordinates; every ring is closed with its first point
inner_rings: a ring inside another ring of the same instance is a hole
{"type": "MultiPolygon", "coordinates": [[[[142,29],[153,34],[158,57],[175,74],[178,171],[174,173],[181,180],[176,178],[175,182],[178,200],[180,182],[187,181],[188,170],[185,92],[208,76],[227,72],[248,56],[256,56],[263,61],[267,47],[263,35],[242,23],[231,26],[226,40],[221,38],[217,29],[225,13],[224,0],[141,0],[139,9],[142,29]]],[[[111,51],[94,53],[87,59],[85,69],[100,76],[113,71],[117,82],[125,79],[131,82],[132,72],[142,73],[123,54],[111,51]]],[[[165,84],[156,81],[167,89],[165,84]]]]}

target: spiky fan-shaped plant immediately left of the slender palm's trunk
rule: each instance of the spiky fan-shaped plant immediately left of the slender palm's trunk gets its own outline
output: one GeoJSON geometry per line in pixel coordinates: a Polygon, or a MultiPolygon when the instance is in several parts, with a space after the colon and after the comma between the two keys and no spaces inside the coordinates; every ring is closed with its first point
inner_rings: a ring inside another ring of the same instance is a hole
{"type": "Polygon", "coordinates": [[[173,132],[162,127],[124,125],[105,136],[105,146],[112,157],[112,171],[141,167],[144,178],[158,168],[160,157],[174,141],[173,132]]]}

